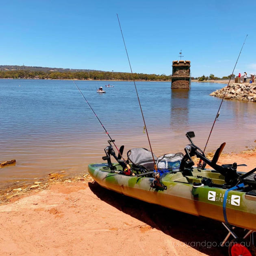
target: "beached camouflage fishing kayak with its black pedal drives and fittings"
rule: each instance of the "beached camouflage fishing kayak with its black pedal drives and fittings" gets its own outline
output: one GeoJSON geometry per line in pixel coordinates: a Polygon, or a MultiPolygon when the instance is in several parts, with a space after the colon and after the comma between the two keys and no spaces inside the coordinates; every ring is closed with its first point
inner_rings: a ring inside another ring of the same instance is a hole
{"type": "MultiPolygon", "coordinates": [[[[143,169],[143,164],[139,166],[128,156],[133,176],[125,175],[125,165],[120,157],[110,154],[105,148],[106,156],[102,159],[108,163],[89,164],[88,172],[106,189],[148,203],[256,231],[256,168],[244,173],[236,171],[239,166],[236,163],[217,165],[223,145],[225,143],[221,144],[210,161],[191,140],[191,144],[185,148],[186,154],[182,157],[179,168],[167,171],[161,169],[159,173],[153,168],[143,169]],[[111,155],[118,163],[111,163],[111,155]],[[193,155],[200,157],[214,169],[194,167],[191,159],[193,155]],[[156,174],[161,178],[157,179],[156,174]]],[[[138,149],[135,155],[138,158],[138,149]]]]}

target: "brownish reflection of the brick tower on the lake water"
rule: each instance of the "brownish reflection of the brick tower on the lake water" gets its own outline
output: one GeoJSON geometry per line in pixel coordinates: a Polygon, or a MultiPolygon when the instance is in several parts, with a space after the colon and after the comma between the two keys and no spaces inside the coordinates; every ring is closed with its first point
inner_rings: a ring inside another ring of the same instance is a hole
{"type": "Polygon", "coordinates": [[[187,127],[189,121],[189,90],[171,89],[171,130],[187,127]]]}

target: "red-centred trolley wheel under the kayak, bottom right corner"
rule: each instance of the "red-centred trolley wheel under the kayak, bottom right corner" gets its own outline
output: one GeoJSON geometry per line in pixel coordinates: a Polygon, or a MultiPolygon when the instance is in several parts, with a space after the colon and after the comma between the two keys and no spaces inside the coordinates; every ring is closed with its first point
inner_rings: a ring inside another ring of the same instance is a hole
{"type": "Polygon", "coordinates": [[[228,247],[229,256],[254,256],[250,251],[250,242],[242,238],[235,238],[228,247]]]}

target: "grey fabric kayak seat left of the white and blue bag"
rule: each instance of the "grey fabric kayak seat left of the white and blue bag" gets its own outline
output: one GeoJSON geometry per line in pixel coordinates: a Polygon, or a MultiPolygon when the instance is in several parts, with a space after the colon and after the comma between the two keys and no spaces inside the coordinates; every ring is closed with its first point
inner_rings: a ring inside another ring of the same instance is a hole
{"type": "MultiPolygon", "coordinates": [[[[157,156],[153,154],[155,162],[157,156]]],[[[127,158],[137,168],[145,169],[146,171],[154,171],[154,161],[152,152],[145,148],[133,148],[127,152],[127,158]]]]}

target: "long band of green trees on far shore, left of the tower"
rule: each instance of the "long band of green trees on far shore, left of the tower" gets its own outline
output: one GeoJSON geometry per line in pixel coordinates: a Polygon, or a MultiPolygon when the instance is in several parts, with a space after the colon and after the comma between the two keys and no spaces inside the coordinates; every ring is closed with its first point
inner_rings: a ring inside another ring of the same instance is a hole
{"type": "MultiPolygon", "coordinates": [[[[165,74],[143,74],[134,73],[135,80],[145,81],[169,81],[171,76],[165,74]]],[[[0,71],[0,78],[33,78],[33,79],[80,79],[80,80],[132,80],[131,73],[124,72],[43,72],[29,70],[8,70],[0,71]]]]}

